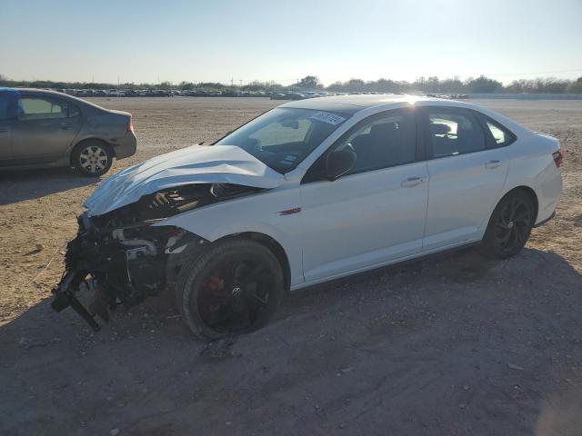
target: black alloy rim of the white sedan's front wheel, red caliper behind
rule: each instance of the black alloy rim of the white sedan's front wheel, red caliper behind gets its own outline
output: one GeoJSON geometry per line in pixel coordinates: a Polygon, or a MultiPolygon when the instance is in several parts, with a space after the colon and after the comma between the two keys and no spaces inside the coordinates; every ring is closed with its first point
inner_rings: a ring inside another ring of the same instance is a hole
{"type": "Polygon", "coordinates": [[[218,333],[246,331],[266,310],[274,282],[273,273],[259,262],[223,263],[202,282],[196,302],[200,318],[218,333]]]}

